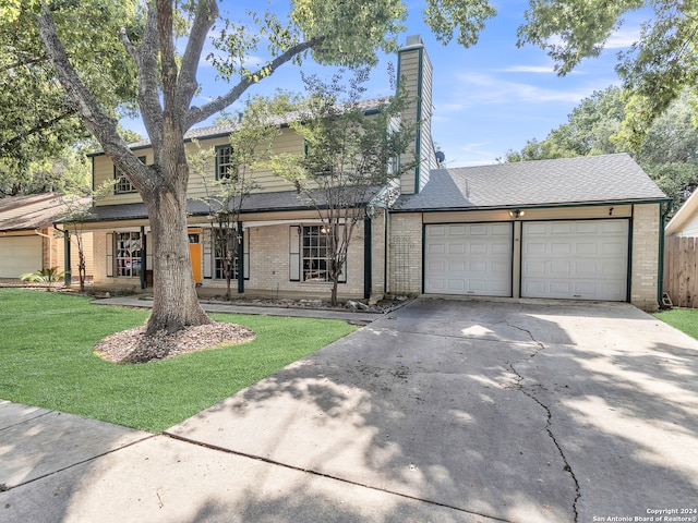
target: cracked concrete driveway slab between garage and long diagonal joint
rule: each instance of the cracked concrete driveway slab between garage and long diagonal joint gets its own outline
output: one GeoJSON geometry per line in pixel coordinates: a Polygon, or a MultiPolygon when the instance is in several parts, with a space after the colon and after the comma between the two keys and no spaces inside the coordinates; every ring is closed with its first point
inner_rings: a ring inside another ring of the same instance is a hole
{"type": "Polygon", "coordinates": [[[698,508],[697,355],[626,304],[419,300],[168,433],[504,521],[647,516],[698,508]]]}

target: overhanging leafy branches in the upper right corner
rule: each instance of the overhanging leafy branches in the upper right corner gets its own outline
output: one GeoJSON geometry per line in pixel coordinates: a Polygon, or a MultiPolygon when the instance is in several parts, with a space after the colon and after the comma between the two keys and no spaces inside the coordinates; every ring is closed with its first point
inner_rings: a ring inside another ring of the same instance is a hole
{"type": "Polygon", "coordinates": [[[639,39],[618,57],[617,72],[628,97],[624,127],[638,148],[652,120],[685,89],[698,85],[698,3],[677,0],[531,0],[519,46],[547,51],[559,74],[598,57],[633,11],[651,11],[639,39]]]}

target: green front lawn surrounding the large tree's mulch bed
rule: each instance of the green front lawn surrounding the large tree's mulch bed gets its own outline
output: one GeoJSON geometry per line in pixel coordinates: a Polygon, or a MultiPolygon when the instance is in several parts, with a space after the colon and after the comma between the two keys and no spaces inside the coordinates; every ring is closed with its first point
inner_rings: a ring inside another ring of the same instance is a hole
{"type": "Polygon", "coordinates": [[[341,320],[219,314],[256,332],[250,343],[125,365],[93,353],[148,311],[0,289],[0,399],[161,431],[357,329],[341,320]]]}

